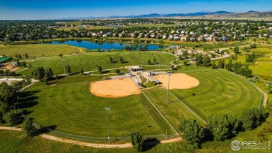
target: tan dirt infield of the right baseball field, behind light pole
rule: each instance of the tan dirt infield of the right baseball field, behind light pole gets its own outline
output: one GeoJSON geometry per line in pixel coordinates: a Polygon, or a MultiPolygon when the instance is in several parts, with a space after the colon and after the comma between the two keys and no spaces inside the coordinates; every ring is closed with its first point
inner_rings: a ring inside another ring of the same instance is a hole
{"type": "MultiPolygon", "coordinates": [[[[163,83],[162,86],[168,89],[168,75],[154,75],[153,79],[159,80],[163,83]]],[[[190,89],[197,87],[197,85],[199,85],[199,80],[185,73],[177,73],[170,76],[169,89],[190,89]]]]}

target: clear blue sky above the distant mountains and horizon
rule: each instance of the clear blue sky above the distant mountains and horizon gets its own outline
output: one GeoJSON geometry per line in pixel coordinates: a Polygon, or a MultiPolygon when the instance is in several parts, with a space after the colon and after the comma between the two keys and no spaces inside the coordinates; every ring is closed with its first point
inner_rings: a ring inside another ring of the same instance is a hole
{"type": "Polygon", "coordinates": [[[194,13],[202,10],[246,12],[272,10],[272,0],[0,0],[0,20],[50,20],[149,13],[194,13]]]}

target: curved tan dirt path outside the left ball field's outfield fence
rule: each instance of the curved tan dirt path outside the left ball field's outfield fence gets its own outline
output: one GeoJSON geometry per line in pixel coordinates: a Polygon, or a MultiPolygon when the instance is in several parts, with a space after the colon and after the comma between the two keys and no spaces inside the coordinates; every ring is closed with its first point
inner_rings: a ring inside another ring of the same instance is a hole
{"type": "MultiPolygon", "coordinates": [[[[14,131],[22,131],[21,128],[17,128],[17,127],[6,127],[6,126],[0,126],[0,130],[14,130],[14,131]]],[[[133,147],[131,145],[131,143],[124,143],[124,144],[119,144],[119,145],[107,145],[107,144],[96,144],[96,143],[85,143],[82,141],[77,141],[77,140],[69,140],[66,138],[58,138],[56,136],[50,136],[48,134],[40,134],[39,136],[46,138],[48,140],[55,140],[55,141],[59,141],[61,143],[70,143],[73,145],[82,145],[82,146],[86,146],[86,147],[100,147],[100,148],[126,148],[126,147],[133,147]]],[[[156,141],[156,142],[150,142],[150,143],[146,143],[145,145],[153,145],[153,144],[158,144],[158,143],[174,143],[177,141],[180,141],[182,138],[172,138],[169,140],[163,140],[163,141],[156,141]]]]}

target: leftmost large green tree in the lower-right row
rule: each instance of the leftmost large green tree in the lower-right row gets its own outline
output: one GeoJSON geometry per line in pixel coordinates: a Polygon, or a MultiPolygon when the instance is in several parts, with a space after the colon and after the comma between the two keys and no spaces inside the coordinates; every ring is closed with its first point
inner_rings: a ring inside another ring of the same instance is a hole
{"type": "Polygon", "coordinates": [[[181,121],[179,130],[183,133],[183,138],[188,141],[190,145],[197,148],[199,147],[204,131],[201,124],[195,119],[185,119],[181,121]]]}

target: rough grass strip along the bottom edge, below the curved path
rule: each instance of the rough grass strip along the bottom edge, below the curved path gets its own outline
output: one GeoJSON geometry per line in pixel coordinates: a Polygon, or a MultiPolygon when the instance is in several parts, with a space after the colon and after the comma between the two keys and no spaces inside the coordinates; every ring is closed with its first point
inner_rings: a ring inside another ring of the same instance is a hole
{"type": "MultiPolygon", "coordinates": [[[[159,144],[156,147],[146,147],[144,152],[232,152],[229,144],[233,140],[271,140],[272,118],[266,119],[266,122],[252,131],[239,133],[238,136],[225,141],[206,142],[202,144],[202,149],[193,150],[186,141],[177,143],[159,144]]],[[[53,140],[46,140],[41,137],[24,138],[22,131],[0,131],[1,152],[135,152],[133,148],[126,149],[100,149],[93,147],[81,147],[59,143],[53,140]],[[15,147],[16,146],[16,147],[15,147]]],[[[255,152],[255,150],[240,150],[239,152],[255,152]]],[[[261,152],[258,150],[257,152],[261,152]]],[[[271,152],[262,150],[262,152],[271,152]]]]}

